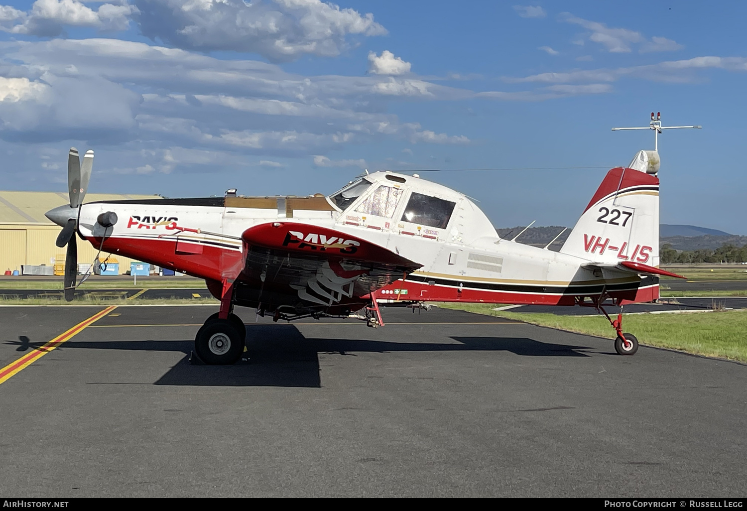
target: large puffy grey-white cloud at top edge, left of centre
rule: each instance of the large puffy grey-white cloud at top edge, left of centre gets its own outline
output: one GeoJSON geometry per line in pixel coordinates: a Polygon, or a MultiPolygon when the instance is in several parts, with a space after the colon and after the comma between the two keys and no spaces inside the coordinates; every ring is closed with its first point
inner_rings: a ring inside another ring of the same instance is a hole
{"type": "Polygon", "coordinates": [[[373,14],[320,0],[135,0],[140,31],[199,52],[258,53],[270,61],[334,57],[351,35],[387,34],[373,14]]]}

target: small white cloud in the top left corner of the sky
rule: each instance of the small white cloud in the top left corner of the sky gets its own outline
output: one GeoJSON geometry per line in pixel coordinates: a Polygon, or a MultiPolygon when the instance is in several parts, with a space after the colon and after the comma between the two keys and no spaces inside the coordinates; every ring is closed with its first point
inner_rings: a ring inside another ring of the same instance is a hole
{"type": "Polygon", "coordinates": [[[65,26],[123,31],[134,13],[137,7],[127,3],[105,3],[93,10],[80,0],[37,0],[28,12],[1,6],[0,30],[42,37],[58,36],[65,26]]]}

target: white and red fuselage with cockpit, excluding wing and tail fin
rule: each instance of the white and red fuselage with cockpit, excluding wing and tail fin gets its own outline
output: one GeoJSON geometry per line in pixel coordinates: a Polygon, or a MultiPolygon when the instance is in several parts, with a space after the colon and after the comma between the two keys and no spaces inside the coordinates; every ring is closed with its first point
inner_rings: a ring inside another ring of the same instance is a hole
{"type": "Polygon", "coordinates": [[[421,264],[376,290],[379,301],[574,305],[577,297],[602,293],[630,301],[658,297],[653,279],[646,282],[614,268],[593,270],[574,255],[501,239],[464,194],[394,173],[373,173],[326,197],[91,202],[81,206],[78,231],[96,248],[188,273],[209,285],[242,279],[247,255],[242,233],[272,222],[303,226],[296,235],[310,243],[318,242],[312,226],[319,226],[421,264]],[[96,223],[105,211],[119,218],[107,229],[96,223]]]}

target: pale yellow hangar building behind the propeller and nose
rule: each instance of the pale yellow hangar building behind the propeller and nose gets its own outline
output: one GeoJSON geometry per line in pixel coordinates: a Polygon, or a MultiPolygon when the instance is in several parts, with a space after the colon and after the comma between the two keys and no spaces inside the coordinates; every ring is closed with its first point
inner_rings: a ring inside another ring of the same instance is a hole
{"type": "MultiPolygon", "coordinates": [[[[153,199],[152,195],[87,193],[86,202],[97,200],[153,199]]],[[[55,245],[62,228],[44,216],[46,211],[67,204],[67,193],[0,191],[0,278],[5,271],[22,271],[22,265],[54,266],[64,263],[65,249],[55,245]]],[[[78,263],[91,264],[97,250],[78,239],[78,263]]],[[[103,261],[108,253],[102,253],[103,261]]],[[[119,273],[130,269],[131,259],[116,256],[119,273]]]]}

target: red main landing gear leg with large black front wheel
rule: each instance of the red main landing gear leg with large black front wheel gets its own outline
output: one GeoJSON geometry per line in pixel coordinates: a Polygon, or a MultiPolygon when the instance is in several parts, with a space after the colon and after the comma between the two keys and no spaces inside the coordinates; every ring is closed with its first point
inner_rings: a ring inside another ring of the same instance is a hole
{"type": "Polygon", "coordinates": [[[194,350],[205,364],[234,364],[244,353],[247,330],[244,321],[232,312],[233,294],[233,281],[223,279],[220,311],[205,320],[194,338],[194,350]]]}

